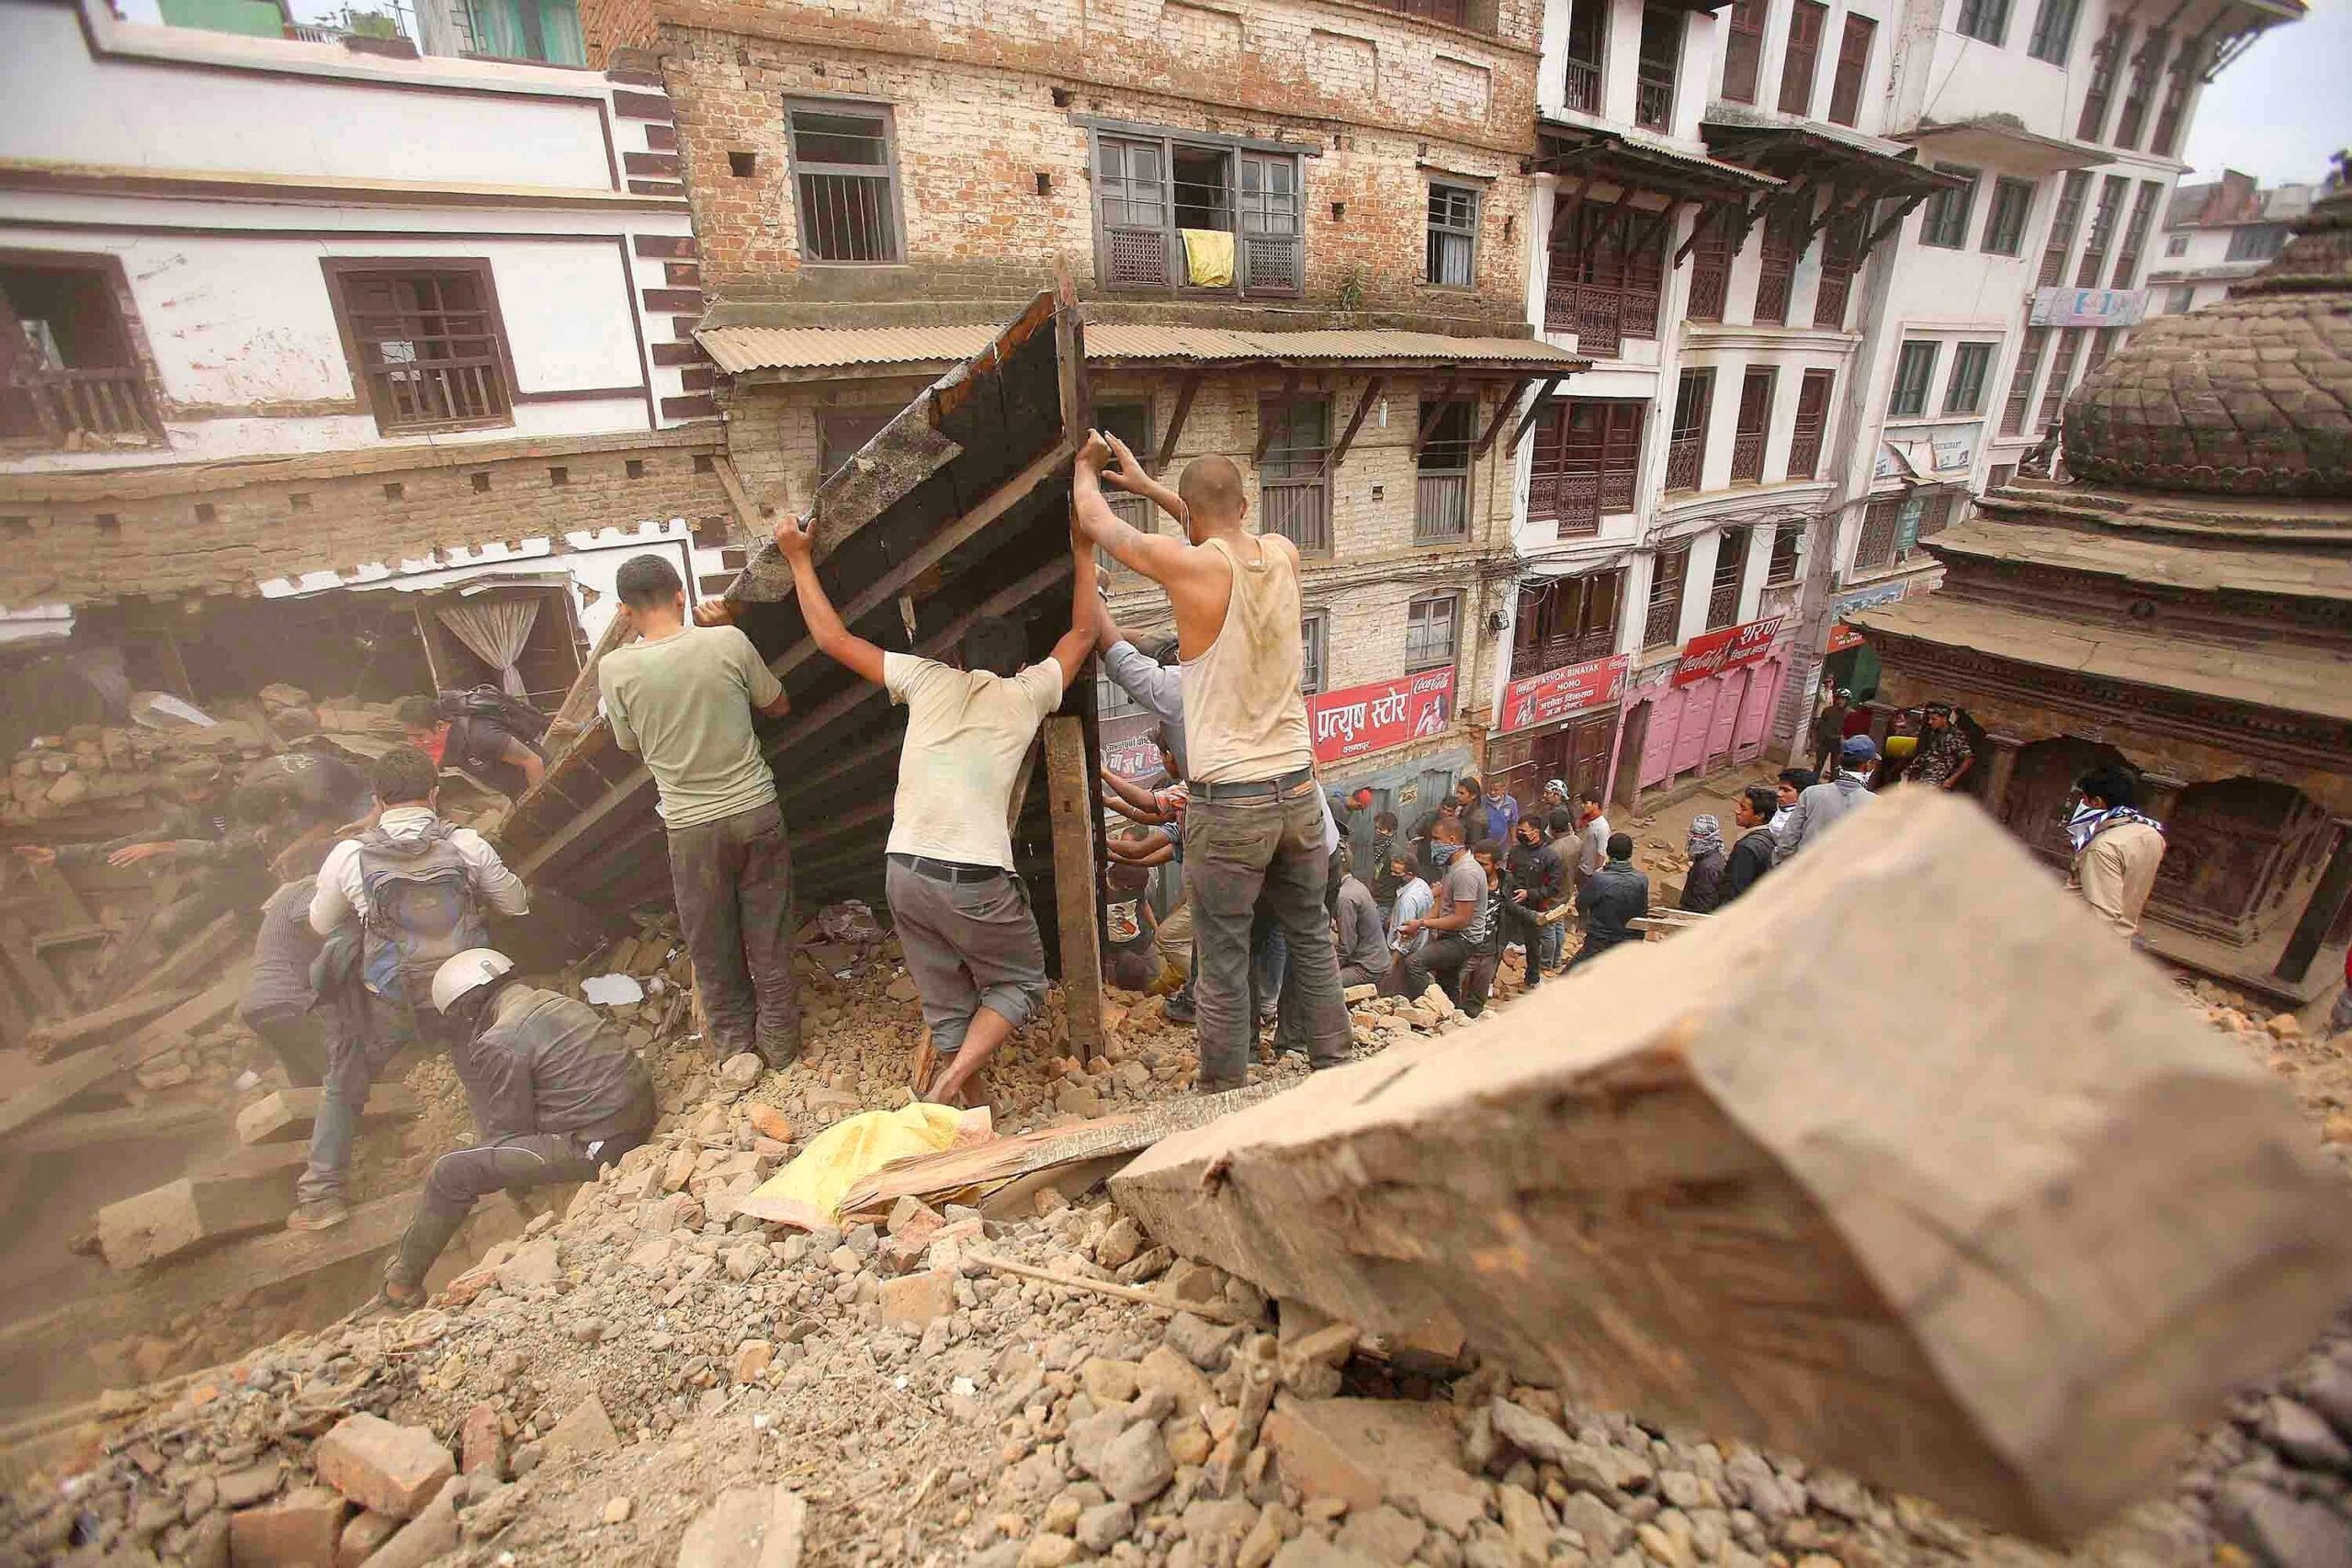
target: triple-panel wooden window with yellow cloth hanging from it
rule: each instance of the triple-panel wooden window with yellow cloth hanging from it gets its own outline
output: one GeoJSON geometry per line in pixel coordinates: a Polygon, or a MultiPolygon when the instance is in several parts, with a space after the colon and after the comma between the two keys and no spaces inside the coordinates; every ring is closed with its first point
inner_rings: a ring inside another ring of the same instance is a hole
{"type": "MultiPolygon", "coordinates": [[[[1094,277],[1096,287],[1105,294],[1160,294],[1169,299],[1298,299],[1305,289],[1308,268],[1308,174],[1305,174],[1305,148],[1289,143],[1265,143],[1244,136],[1216,136],[1209,132],[1183,132],[1174,127],[1152,125],[1089,125],[1087,127],[1087,169],[1094,176],[1094,193],[1087,202],[1089,221],[1094,223],[1094,277]],[[1157,174],[1157,207],[1160,226],[1148,228],[1143,223],[1108,223],[1103,219],[1103,207],[1110,200],[1131,202],[1124,186],[1134,183],[1120,176],[1120,190],[1110,188],[1110,179],[1103,174],[1103,148],[1105,146],[1150,146],[1160,153],[1157,174]],[[1178,148],[1192,153],[1218,153],[1225,158],[1225,233],[1232,235],[1232,282],[1223,287],[1195,287],[1183,280],[1183,230],[1176,223],[1176,153],[1178,148]],[[1277,200],[1284,200],[1265,183],[1265,169],[1261,167],[1261,186],[1256,193],[1256,209],[1249,207],[1251,193],[1247,186],[1244,165],[1287,165],[1291,172],[1289,188],[1289,219],[1291,233],[1279,233],[1275,228],[1251,228],[1251,221],[1268,223],[1277,212],[1277,200]],[[1160,280],[1117,280],[1112,277],[1110,254],[1112,235],[1120,233],[1152,233],[1160,237],[1160,280]],[[1287,242],[1287,277],[1265,280],[1258,277],[1256,254],[1270,242],[1287,242]]],[[[1456,181],[1458,183],[1458,181],[1456,181]]],[[[1475,268],[1472,259],[1472,268],[1475,268]]],[[[1475,273],[1472,273],[1475,277],[1475,273]]]]}

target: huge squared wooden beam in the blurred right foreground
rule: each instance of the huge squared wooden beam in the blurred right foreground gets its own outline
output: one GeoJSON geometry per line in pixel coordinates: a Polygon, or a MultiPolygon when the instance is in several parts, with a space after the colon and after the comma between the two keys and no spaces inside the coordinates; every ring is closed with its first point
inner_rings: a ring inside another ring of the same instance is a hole
{"type": "Polygon", "coordinates": [[[1449,1309],[1576,1403],[2044,1540],[2169,1486],[2166,1436],[2352,1295],[2352,1190],[2279,1081],[1926,790],[1112,1194],[1270,1295],[1376,1333],[1449,1309]],[[1825,922],[1835,952],[1790,947],[1825,922]]]}

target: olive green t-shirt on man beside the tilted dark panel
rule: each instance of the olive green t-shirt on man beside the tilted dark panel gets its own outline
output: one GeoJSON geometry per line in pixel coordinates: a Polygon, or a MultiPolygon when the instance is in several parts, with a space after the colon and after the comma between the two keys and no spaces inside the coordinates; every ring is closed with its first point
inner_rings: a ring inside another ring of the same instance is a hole
{"type": "Polygon", "coordinates": [[[715,823],[776,799],[750,710],[783,686],[741,630],[689,625],[597,663],[604,717],[621,750],[644,757],[670,827],[715,823]]]}

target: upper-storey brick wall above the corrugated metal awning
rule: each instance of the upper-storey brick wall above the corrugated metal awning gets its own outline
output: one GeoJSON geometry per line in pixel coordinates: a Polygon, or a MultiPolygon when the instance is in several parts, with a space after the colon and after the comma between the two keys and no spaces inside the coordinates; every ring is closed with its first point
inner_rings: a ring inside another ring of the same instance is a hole
{"type": "MultiPolygon", "coordinates": [[[[1195,12],[1232,24],[1223,9],[1171,12],[1181,26],[1192,26],[1195,12]]],[[[1023,28],[1042,28],[1042,42],[1030,33],[967,38],[927,45],[922,59],[898,52],[934,38],[920,26],[844,31],[830,14],[797,7],[663,14],[741,28],[666,28],[703,277],[724,299],[1011,301],[1049,280],[1056,256],[1068,259],[1082,289],[1096,292],[1084,115],[1315,148],[1303,160],[1303,299],[1277,303],[1463,331],[1515,331],[1524,317],[1519,214],[1529,181],[1519,160],[1531,150],[1534,56],[1491,40],[1374,21],[1383,14],[1369,7],[1315,12],[1345,19],[1341,31],[1310,26],[1294,7],[1244,7],[1235,26],[1251,47],[1209,71],[1200,56],[1157,42],[1150,63],[1129,59],[1127,33],[1108,42],[1089,33],[1080,52],[1051,31],[1056,7],[1021,19],[1023,28]],[[906,268],[802,266],[781,108],[788,96],[891,106],[906,268]],[[736,172],[743,155],[748,174],[736,172]],[[1475,289],[1421,282],[1430,174],[1491,181],[1475,289]]],[[[1004,14],[993,21],[1007,28],[1004,14]]],[[[1110,299],[1138,301],[1138,310],[1164,301],[1110,299]]],[[[1112,315],[1096,308],[1098,320],[1112,315]]]]}

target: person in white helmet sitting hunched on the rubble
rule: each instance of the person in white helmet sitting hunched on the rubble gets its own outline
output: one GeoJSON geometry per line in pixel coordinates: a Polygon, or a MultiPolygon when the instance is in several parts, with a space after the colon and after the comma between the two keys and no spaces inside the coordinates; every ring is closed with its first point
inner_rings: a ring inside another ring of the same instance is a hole
{"type": "Polygon", "coordinates": [[[517,1187],[593,1182],[654,1135],[654,1079],[604,1016],[586,1001],[524,985],[492,947],[447,959],[433,1009],[459,1041],[475,1084],[475,1143],[433,1161],[393,1260],[383,1300],[414,1307],[426,1272],[473,1213],[475,1199],[517,1187]]]}

